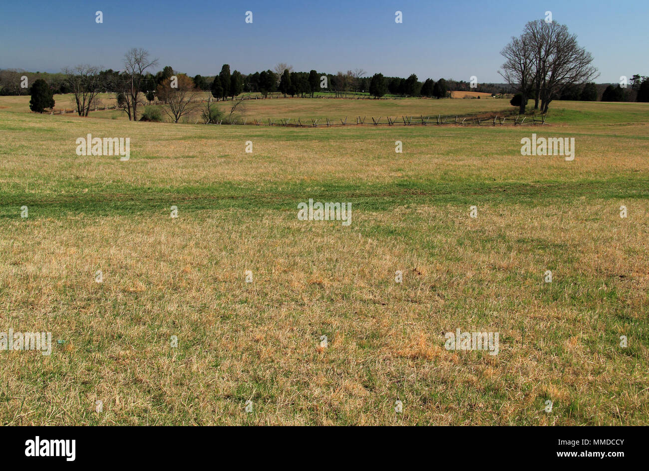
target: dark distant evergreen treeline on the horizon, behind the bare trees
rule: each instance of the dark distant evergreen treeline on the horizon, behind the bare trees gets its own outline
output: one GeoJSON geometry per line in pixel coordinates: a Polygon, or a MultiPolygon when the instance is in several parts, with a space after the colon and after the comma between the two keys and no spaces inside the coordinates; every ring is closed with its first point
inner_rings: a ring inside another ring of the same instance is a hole
{"type": "MultiPolygon", "coordinates": [[[[383,77],[374,74],[373,77],[363,77],[365,71],[356,69],[347,73],[294,72],[286,66],[282,73],[278,73],[285,64],[278,64],[275,70],[265,70],[251,74],[242,74],[235,70],[230,73],[230,66],[224,64],[219,75],[195,75],[191,78],[195,88],[202,91],[212,91],[217,99],[236,97],[241,93],[269,93],[280,92],[284,95],[313,96],[315,93],[334,93],[336,97],[350,97],[358,94],[369,94],[376,97],[393,95],[398,97],[446,97],[448,91],[478,91],[499,95],[513,93],[508,84],[477,84],[474,88],[465,80],[452,80],[440,78],[435,82],[431,78],[419,81],[417,75],[411,74],[403,77],[383,77]],[[323,79],[326,78],[325,79],[323,79]]],[[[123,74],[113,69],[98,71],[97,83],[99,91],[104,93],[119,93],[121,82],[125,80],[123,74]]],[[[140,82],[140,91],[146,93],[153,100],[155,92],[166,80],[173,75],[184,75],[175,71],[171,66],[165,66],[157,73],[147,73],[140,82]]],[[[66,73],[27,72],[19,69],[0,69],[0,95],[29,95],[30,88],[21,87],[22,77],[27,77],[27,84],[31,86],[39,78],[49,84],[53,93],[73,93],[73,86],[66,73]]],[[[519,95],[519,94],[518,94],[519,95]]],[[[594,84],[586,83],[569,86],[563,90],[559,100],[572,101],[642,101],[649,102],[649,77],[633,75],[628,86],[620,84],[594,84]]],[[[528,99],[533,99],[530,92],[528,99]]],[[[515,99],[518,103],[519,99],[515,99]]]]}

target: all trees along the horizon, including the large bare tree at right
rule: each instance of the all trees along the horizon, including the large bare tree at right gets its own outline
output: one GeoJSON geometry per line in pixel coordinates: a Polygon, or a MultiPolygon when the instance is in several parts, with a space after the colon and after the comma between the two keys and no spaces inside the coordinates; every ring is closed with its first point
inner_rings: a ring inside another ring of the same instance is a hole
{"type": "MultiPolygon", "coordinates": [[[[599,95],[598,86],[591,82],[598,76],[597,69],[592,65],[593,57],[580,47],[576,36],[570,34],[565,25],[542,19],[530,21],[519,37],[511,38],[501,54],[506,62],[499,73],[507,85],[481,84],[471,90],[491,91],[492,94],[517,91],[511,103],[519,106],[520,113],[525,112],[530,100],[534,102],[534,110],[546,113],[555,99],[595,101],[599,95]]],[[[145,99],[149,103],[158,99],[169,105],[165,112],[178,122],[182,115],[188,114],[191,108],[188,103],[196,101],[201,91],[210,91],[216,101],[228,98],[234,101],[234,97],[243,92],[257,92],[264,97],[276,92],[284,96],[313,97],[321,91],[332,92],[336,97],[369,93],[375,98],[391,94],[439,99],[447,97],[449,90],[467,89],[467,82],[444,78],[436,82],[426,78],[420,82],[415,74],[407,78],[384,77],[381,73],[365,77],[363,69],[333,75],[318,73],[315,69],[298,72],[287,64],[277,64],[273,70],[245,75],[237,70],[231,72],[230,66],[223,64],[214,77],[195,75],[191,78],[174,71],[171,66],[165,66],[154,74],[157,65],[158,60],[150,58],[148,51],[130,49],[124,56],[121,71],[102,70],[88,65],[64,69],[50,83],[42,78],[34,81],[30,90],[34,102],[32,110],[42,112],[45,104],[53,103],[53,93],[73,93],[77,113],[87,116],[96,106],[99,93],[110,92],[116,96],[117,109],[123,110],[133,121],[138,120],[138,110],[145,104],[145,99]],[[38,87],[35,87],[36,84],[38,87]],[[34,99],[34,90],[43,96],[34,99]]],[[[0,93],[20,94],[22,82],[18,71],[0,71],[0,93]]],[[[649,101],[649,78],[634,75],[630,93],[619,85],[608,86],[602,92],[602,100],[624,101],[633,94],[637,101],[649,101]]],[[[210,113],[208,109],[208,115],[210,113]]]]}

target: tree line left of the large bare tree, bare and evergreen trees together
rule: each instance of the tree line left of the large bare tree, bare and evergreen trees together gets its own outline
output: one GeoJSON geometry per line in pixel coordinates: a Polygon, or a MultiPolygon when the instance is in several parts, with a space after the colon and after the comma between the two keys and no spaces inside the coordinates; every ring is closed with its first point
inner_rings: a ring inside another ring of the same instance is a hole
{"type": "MultiPolygon", "coordinates": [[[[31,74],[25,71],[5,70],[0,71],[0,94],[20,95],[22,93],[32,94],[32,90],[38,93],[53,95],[53,93],[73,93],[77,113],[80,116],[87,116],[93,106],[97,104],[99,93],[114,93],[116,95],[117,108],[123,110],[129,119],[138,119],[138,108],[141,108],[145,98],[149,103],[156,98],[169,104],[171,97],[177,97],[180,91],[183,97],[195,98],[196,91],[211,91],[215,100],[234,99],[243,92],[261,93],[267,97],[269,93],[282,93],[284,96],[310,96],[315,93],[326,91],[334,93],[335,97],[347,97],[350,94],[363,93],[376,98],[386,94],[402,97],[446,97],[451,87],[457,90],[467,88],[468,82],[445,80],[441,78],[437,82],[427,78],[420,82],[417,75],[411,74],[408,78],[384,77],[382,74],[374,74],[373,77],[365,77],[363,69],[348,70],[346,73],[338,72],[336,75],[330,73],[319,73],[312,69],[309,72],[293,71],[293,67],[286,64],[277,64],[273,70],[242,74],[237,70],[230,71],[230,66],[224,64],[221,72],[213,77],[202,77],[195,75],[193,78],[175,71],[171,66],[165,66],[157,73],[152,69],[158,64],[157,59],[149,58],[148,51],[143,49],[131,49],[123,60],[123,69],[101,69],[96,66],[78,65],[67,67],[58,74],[31,74]],[[23,89],[21,77],[27,77],[32,85],[28,90],[23,89]],[[35,77],[36,80],[34,80],[35,77]],[[171,83],[171,77],[175,77],[175,83],[171,83]],[[180,78],[182,77],[182,78],[180,78]],[[39,81],[40,80],[40,81],[39,81]],[[177,90],[177,81],[180,80],[180,90],[177,90]],[[38,87],[33,85],[38,82],[38,87]],[[45,91],[43,83],[49,87],[45,91]]],[[[505,90],[493,84],[481,84],[476,91],[493,91],[503,93],[505,90]]],[[[34,110],[41,111],[42,104],[50,103],[52,97],[41,97],[34,101],[34,110]]],[[[180,107],[182,113],[184,107],[180,107]]],[[[177,121],[178,116],[173,116],[177,121]]]]}

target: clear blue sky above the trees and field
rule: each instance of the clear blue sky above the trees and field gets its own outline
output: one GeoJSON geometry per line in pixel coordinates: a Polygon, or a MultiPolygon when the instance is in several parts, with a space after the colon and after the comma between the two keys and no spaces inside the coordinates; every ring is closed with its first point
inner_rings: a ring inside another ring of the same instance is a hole
{"type": "Polygon", "coordinates": [[[3,0],[0,68],[121,69],[123,54],[143,47],[160,59],[156,70],[169,65],[192,76],[214,75],[222,64],[251,73],[285,62],[299,71],[360,67],[368,75],[502,82],[500,50],[546,10],[593,54],[596,82],[649,75],[647,0],[3,0]],[[95,23],[97,10],[103,24],[95,23]]]}

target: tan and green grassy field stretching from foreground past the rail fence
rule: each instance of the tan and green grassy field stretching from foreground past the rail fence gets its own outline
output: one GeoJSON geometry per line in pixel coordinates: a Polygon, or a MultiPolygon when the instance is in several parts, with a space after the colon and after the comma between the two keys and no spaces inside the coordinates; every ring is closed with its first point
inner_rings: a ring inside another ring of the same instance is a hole
{"type": "Polygon", "coordinates": [[[53,351],[0,351],[1,424],[649,423],[647,104],[556,102],[546,127],[313,129],[28,101],[0,97],[0,331],[52,332],[53,351]],[[574,161],[521,156],[532,132],[574,138],[574,161]],[[77,156],[87,133],[129,137],[130,160],[77,156]],[[351,224],[299,221],[310,198],[351,202],[351,224]],[[499,332],[498,355],[446,350],[457,328],[499,332]]]}

